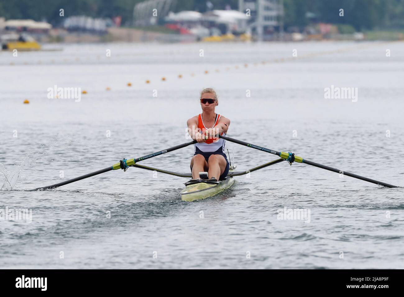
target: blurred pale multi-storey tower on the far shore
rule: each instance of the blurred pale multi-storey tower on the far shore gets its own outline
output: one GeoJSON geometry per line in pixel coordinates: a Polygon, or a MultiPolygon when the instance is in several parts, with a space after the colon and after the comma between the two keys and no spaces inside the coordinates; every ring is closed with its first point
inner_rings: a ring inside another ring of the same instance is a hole
{"type": "Polygon", "coordinates": [[[258,40],[271,39],[275,31],[283,34],[283,0],[239,0],[239,11],[250,14],[248,26],[258,40]]]}

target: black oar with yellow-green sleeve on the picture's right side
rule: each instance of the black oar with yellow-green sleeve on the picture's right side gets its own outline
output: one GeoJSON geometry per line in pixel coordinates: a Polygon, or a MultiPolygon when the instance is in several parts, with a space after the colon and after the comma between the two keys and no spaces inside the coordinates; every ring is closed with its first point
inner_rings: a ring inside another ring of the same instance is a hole
{"type": "Polygon", "coordinates": [[[238,143],[238,144],[241,144],[241,145],[252,147],[252,148],[254,148],[256,150],[267,152],[269,154],[274,154],[276,156],[280,156],[281,158],[284,158],[285,160],[287,160],[290,164],[292,164],[292,162],[305,163],[305,164],[308,164],[308,165],[311,165],[311,166],[316,166],[316,167],[319,167],[319,168],[322,168],[322,169],[326,169],[326,170],[329,170],[329,171],[334,171],[336,173],[341,173],[343,175],[354,177],[356,179],[362,179],[362,181],[368,181],[370,183],[376,183],[377,185],[383,185],[384,187],[398,187],[396,185],[390,185],[389,183],[383,183],[382,181],[376,181],[374,179],[370,179],[370,178],[367,178],[367,177],[363,177],[363,176],[360,176],[360,175],[356,175],[356,174],[353,174],[353,173],[349,173],[349,172],[346,172],[346,171],[335,169],[335,168],[332,168],[332,167],[329,167],[329,166],[326,166],[326,165],[318,164],[316,162],[312,162],[312,161],[303,159],[303,158],[301,158],[299,156],[295,156],[295,154],[292,154],[290,152],[288,152],[288,153],[277,152],[277,151],[274,151],[274,150],[267,149],[265,147],[261,147],[259,145],[247,143],[247,142],[237,140],[237,139],[234,139],[234,138],[230,138],[230,137],[227,137],[227,136],[219,135],[219,137],[223,138],[223,139],[225,139],[227,141],[231,141],[231,142],[234,142],[234,143],[238,143]]]}

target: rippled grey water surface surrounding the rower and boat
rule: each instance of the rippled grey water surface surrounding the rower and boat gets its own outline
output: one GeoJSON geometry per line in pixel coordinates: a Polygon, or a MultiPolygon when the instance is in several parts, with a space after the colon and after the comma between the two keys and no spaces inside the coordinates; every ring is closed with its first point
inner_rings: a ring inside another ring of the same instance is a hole
{"type": "MultiPolygon", "coordinates": [[[[403,189],[306,164],[198,202],[181,201],[186,179],[135,168],[26,191],[189,141],[208,86],[228,136],[404,185],[403,43],[84,44],[0,65],[0,215],[32,209],[0,220],[1,268],[404,268],[403,189]],[[87,94],[48,99],[54,85],[87,94]],[[358,100],[324,99],[332,85],[358,100]],[[285,207],[309,219],[279,219],[285,207]]],[[[226,145],[238,170],[276,159],[226,145]]],[[[143,164],[188,172],[192,154],[143,164]]]]}

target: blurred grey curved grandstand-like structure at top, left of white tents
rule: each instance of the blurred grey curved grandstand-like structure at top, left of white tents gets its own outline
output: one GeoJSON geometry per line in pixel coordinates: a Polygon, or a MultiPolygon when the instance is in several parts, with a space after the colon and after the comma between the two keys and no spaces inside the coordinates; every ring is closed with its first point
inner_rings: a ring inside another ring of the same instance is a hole
{"type": "Polygon", "coordinates": [[[175,0],[147,0],[133,8],[133,25],[147,27],[157,25],[174,8],[175,0]]]}

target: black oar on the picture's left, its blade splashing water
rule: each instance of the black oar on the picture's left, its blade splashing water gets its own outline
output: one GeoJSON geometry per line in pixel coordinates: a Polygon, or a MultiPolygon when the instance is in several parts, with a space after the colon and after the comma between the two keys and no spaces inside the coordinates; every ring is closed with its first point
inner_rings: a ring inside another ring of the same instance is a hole
{"type": "Polygon", "coordinates": [[[116,163],[116,164],[114,164],[112,166],[109,166],[107,168],[104,168],[104,169],[101,169],[101,170],[98,170],[98,171],[94,171],[92,173],[88,173],[88,174],[85,174],[85,175],[82,175],[82,176],[79,176],[79,177],[75,177],[74,179],[69,179],[67,181],[62,181],[61,183],[55,183],[54,185],[48,185],[46,187],[38,187],[38,188],[36,188],[34,190],[30,190],[30,191],[41,191],[41,190],[46,190],[46,189],[54,189],[55,187],[60,187],[61,185],[67,185],[68,183],[74,183],[75,181],[80,181],[81,179],[86,179],[87,177],[92,177],[94,175],[99,175],[101,173],[108,172],[108,171],[111,171],[111,170],[124,169],[124,171],[126,171],[126,169],[128,169],[129,166],[132,166],[133,164],[136,164],[139,161],[143,161],[143,160],[146,160],[146,159],[149,159],[149,158],[159,156],[161,154],[172,152],[172,151],[178,150],[180,148],[186,147],[186,146],[194,144],[194,143],[196,143],[195,140],[191,141],[191,142],[186,142],[186,143],[183,143],[183,144],[180,144],[180,145],[176,145],[176,146],[170,147],[170,148],[168,148],[166,150],[161,150],[161,151],[158,151],[158,152],[155,152],[153,154],[149,154],[149,155],[137,158],[137,159],[130,159],[130,160],[123,159],[123,160],[120,160],[119,163],[116,163]]]}

